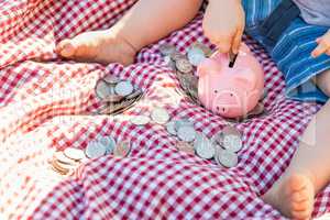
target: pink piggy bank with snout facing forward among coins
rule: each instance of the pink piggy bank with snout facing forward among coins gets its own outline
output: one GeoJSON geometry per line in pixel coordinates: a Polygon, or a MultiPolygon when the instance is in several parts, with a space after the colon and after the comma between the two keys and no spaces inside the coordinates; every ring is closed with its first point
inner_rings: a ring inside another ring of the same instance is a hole
{"type": "Polygon", "coordinates": [[[264,73],[245,44],[234,66],[229,55],[216,53],[198,66],[198,97],[212,112],[224,118],[246,116],[263,95],[264,73]]]}

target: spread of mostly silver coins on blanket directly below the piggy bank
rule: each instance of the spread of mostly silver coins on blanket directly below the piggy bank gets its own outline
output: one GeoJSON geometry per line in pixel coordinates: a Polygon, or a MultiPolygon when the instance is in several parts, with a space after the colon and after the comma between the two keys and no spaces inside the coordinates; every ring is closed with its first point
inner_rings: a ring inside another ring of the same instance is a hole
{"type": "Polygon", "coordinates": [[[172,120],[166,124],[167,132],[179,139],[176,147],[204,160],[212,160],[217,164],[231,168],[238,165],[238,152],[243,147],[241,133],[233,127],[226,127],[212,139],[198,132],[188,119],[172,120]]]}

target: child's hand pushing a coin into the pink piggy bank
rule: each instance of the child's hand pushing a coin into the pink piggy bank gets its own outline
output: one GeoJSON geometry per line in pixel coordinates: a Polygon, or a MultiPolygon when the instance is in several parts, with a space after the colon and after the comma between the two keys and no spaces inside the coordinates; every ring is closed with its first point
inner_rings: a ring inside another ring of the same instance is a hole
{"type": "Polygon", "coordinates": [[[245,28],[245,13],[241,0],[209,0],[204,18],[205,35],[221,53],[239,53],[245,28]]]}

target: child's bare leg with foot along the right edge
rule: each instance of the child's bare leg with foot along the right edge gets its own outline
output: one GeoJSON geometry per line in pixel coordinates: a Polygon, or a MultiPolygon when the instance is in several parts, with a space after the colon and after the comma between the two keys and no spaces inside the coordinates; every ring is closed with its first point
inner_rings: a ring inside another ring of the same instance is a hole
{"type": "MultiPolygon", "coordinates": [[[[317,77],[317,84],[330,96],[330,70],[317,77]]],[[[309,219],[314,197],[330,182],[330,101],[307,127],[294,158],[263,199],[294,219],[309,219]]]]}

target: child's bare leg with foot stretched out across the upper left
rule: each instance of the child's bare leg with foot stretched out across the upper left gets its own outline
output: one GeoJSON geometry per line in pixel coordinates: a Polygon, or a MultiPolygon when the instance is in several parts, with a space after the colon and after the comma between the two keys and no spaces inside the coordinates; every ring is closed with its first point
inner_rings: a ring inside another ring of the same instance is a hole
{"type": "Polygon", "coordinates": [[[56,52],[70,59],[129,65],[142,47],[187,24],[202,0],[140,0],[112,28],[59,42],[56,52]]]}

